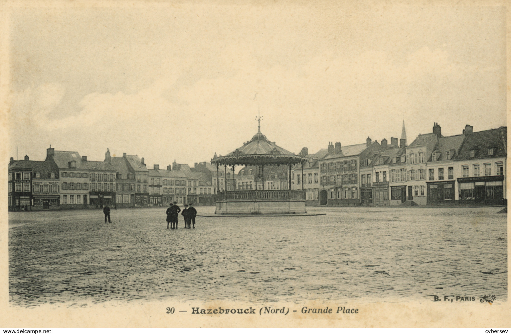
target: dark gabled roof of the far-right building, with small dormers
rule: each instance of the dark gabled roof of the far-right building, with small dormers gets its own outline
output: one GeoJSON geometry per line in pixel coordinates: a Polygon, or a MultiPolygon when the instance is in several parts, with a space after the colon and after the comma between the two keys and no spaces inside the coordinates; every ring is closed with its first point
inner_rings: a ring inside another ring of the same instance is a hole
{"type": "Polygon", "coordinates": [[[499,157],[507,155],[505,146],[507,127],[490,129],[465,134],[463,144],[455,160],[468,160],[486,157],[499,157]],[[494,148],[493,155],[488,155],[489,148],[494,148]],[[476,149],[475,157],[470,157],[470,151],[476,149]]]}

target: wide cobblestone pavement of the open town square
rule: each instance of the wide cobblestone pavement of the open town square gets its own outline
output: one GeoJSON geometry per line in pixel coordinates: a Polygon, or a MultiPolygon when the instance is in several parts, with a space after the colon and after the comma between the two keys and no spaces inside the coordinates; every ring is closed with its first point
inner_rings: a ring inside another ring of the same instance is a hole
{"type": "MultiPolygon", "coordinates": [[[[501,208],[308,208],[313,217],[197,217],[166,208],[10,212],[13,305],[111,300],[507,299],[501,208]],[[428,297],[430,298],[430,297],[428,297]]],[[[213,207],[197,207],[212,214],[213,207]]]]}

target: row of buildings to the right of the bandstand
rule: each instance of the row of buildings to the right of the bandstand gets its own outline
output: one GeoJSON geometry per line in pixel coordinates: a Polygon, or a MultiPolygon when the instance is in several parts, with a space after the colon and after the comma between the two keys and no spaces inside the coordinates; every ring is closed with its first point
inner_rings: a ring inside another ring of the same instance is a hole
{"type": "MultiPolygon", "coordinates": [[[[309,205],[503,205],[507,128],[443,136],[435,123],[407,145],[398,138],[342,147],[330,143],[294,166],[293,189],[309,205]]],[[[303,154],[307,154],[304,148],[303,154]]]]}

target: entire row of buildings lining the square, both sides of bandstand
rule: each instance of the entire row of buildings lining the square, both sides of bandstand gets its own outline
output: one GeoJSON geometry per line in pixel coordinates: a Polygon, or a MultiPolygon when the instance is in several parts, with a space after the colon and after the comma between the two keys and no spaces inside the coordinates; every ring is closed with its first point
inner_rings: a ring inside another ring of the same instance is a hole
{"type": "MultiPolygon", "coordinates": [[[[237,174],[209,162],[175,161],[166,169],[123,154],[89,161],[78,152],[47,149],[44,161],[9,163],[9,209],[162,206],[169,202],[214,205],[224,190],[304,190],[307,205],[502,205],[506,199],[507,128],[443,136],[434,124],[407,145],[401,138],[299,153],[292,166],[246,165],[237,174]],[[291,173],[291,175],[289,175],[291,173]],[[291,185],[289,184],[291,180],[291,185]],[[263,184],[264,183],[264,184],[263,184]]],[[[216,157],[216,154],[215,154],[216,157]]]]}

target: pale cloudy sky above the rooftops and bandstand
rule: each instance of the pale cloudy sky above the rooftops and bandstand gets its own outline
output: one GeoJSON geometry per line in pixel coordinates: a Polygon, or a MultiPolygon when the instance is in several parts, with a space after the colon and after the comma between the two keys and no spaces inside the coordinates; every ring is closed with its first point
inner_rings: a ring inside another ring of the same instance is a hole
{"type": "Polygon", "coordinates": [[[506,125],[503,7],[381,4],[14,8],[9,156],[193,166],[241,147],[258,112],[295,153],[390,141],[403,121],[408,144],[435,122],[506,125]]]}

